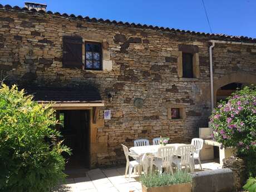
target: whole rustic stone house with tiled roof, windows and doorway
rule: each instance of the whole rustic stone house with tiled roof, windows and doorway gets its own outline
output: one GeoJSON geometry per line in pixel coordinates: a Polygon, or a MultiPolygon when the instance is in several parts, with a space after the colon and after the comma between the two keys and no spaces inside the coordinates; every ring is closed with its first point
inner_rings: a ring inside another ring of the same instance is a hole
{"type": "Polygon", "coordinates": [[[43,105],[55,102],[71,162],[91,168],[123,163],[120,144],[140,137],[198,136],[211,103],[256,83],[255,43],[0,5],[2,77],[43,105]]]}

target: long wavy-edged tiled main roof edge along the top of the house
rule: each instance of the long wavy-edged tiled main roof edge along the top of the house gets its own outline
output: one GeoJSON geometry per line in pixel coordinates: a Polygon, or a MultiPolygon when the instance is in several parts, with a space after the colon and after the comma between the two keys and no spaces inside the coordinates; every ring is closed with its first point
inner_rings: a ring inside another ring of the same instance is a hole
{"type": "Polygon", "coordinates": [[[215,39],[215,40],[225,40],[225,41],[238,41],[238,42],[256,42],[256,38],[252,37],[246,37],[246,36],[229,36],[229,35],[224,35],[224,34],[216,34],[216,33],[204,33],[204,32],[195,32],[195,31],[185,31],[181,29],[175,29],[175,28],[169,28],[169,27],[158,27],[158,26],[152,26],[152,25],[146,25],[146,24],[140,24],[140,23],[129,23],[129,22],[122,22],[122,21],[110,21],[109,19],[97,19],[97,18],[90,18],[90,17],[82,17],[82,16],[75,16],[75,14],[70,14],[68,15],[67,13],[59,13],[59,12],[51,12],[51,11],[37,11],[36,9],[30,9],[26,7],[18,7],[18,6],[10,6],[9,4],[2,6],[0,4],[0,9],[5,9],[9,11],[20,11],[20,12],[29,12],[29,13],[40,13],[40,14],[55,14],[57,16],[62,16],[66,18],[72,18],[72,19],[78,19],[81,21],[86,21],[86,22],[94,22],[94,23],[106,23],[106,24],[114,24],[116,26],[127,26],[127,27],[136,27],[136,28],[146,28],[146,29],[154,29],[154,30],[159,30],[159,31],[170,31],[170,32],[179,32],[179,33],[185,33],[185,34],[191,34],[191,35],[197,35],[197,36],[205,36],[209,37],[210,39],[215,39]]]}

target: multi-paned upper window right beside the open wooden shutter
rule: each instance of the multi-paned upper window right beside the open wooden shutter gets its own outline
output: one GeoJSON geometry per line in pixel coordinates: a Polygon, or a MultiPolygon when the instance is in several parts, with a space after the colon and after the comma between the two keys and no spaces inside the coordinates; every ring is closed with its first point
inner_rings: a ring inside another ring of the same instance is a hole
{"type": "Polygon", "coordinates": [[[102,48],[101,43],[85,42],[85,69],[102,69],[102,48]]]}

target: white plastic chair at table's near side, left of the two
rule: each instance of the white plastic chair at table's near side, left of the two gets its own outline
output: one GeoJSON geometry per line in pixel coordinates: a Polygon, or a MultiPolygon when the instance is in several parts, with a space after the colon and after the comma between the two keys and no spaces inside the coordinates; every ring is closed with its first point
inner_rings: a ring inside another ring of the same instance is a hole
{"type": "Polygon", "coordinates": [[[156,166],[159,173],[163,172],[163,168],[166,169],[166,172],[173,174],[173,156],[175,152],[175,146],[163,146],[159,147],[157,151],[157,156],[154,159],[153,165],[156,166]]]}

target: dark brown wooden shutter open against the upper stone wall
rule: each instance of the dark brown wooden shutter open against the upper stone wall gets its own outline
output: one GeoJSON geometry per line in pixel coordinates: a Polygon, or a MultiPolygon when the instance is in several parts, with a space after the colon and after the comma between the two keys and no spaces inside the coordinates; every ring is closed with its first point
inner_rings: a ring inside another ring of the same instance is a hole
{"type": "Polygon", "coordinates": [[[63,67],[82,68],[82,37],[63,37],[63,67]]]}

